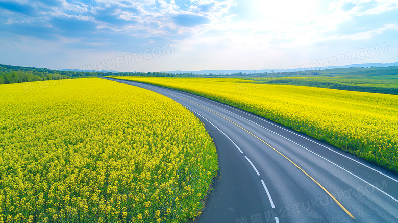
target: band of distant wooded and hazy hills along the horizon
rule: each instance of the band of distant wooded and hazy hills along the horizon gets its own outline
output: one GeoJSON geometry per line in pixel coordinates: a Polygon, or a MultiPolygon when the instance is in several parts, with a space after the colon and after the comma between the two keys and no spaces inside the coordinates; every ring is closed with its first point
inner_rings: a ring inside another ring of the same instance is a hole
{"type": "MultiPolygon", "coordinates": [[[[42,80],[58,80],[78,77],[97,77],[97,76],[148,76],[148,77],[265,77],[265,76],[390,76],[395,75],[398,70],[397,63],[382,64],[354,64],[350,68],[328,67],[328,69],[318,70],[202,70],[202,71],[169,71],[169,72],[117,72],[117,71],[94,71],[63,69],[50,70],[46,68],[20,67],[0,64],[0,84],[21,83],[42,80]],[[369,67],[369,68],[363,68],[369,67]],[[284,73],[283,73],[284,72],[284,73]],[[288,73],[286,73],[288,72],[288,73]],[[272,73],[275,73],[272,74],[272,73]]],[[[325,67],[324,67],[325,68],[325,67]]]]}

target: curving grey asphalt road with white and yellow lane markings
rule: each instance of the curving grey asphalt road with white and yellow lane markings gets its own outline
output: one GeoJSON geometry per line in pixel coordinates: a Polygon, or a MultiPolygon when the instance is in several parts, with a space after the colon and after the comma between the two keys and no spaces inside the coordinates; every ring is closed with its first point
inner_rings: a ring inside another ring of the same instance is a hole
{"type": "Polygon", "coordinates": [[[398,176],[304,134],[207,98],[165,95],[202,120],[220,177],[195,222],[398,222],[398,176]]]}

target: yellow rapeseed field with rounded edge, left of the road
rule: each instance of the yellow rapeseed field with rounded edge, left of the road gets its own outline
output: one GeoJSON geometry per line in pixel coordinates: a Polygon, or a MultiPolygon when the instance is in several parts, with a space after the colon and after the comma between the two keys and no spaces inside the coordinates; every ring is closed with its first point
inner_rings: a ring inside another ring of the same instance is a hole
{"type": "Polygon", "coordinates": [[[175,101],[99,78],[0,85],[0,222],[181,222],[218,169],[175,101]]]}

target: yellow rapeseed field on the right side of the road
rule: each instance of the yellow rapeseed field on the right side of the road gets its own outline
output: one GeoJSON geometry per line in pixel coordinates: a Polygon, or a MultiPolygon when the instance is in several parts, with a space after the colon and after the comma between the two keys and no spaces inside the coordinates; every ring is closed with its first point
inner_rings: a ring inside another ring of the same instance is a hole
{"type": "Polygon", "coordinates": [[[236,106],[398,172],[398,95],[266,85],[234,78],[119,78],[236,106]]]}

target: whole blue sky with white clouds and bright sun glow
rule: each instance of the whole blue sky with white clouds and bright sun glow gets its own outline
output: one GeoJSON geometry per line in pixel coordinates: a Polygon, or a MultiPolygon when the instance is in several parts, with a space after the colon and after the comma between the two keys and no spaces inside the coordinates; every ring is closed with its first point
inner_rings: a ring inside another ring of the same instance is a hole
{"type": "Polygon", "coordinates": [[[152,72],[392,63],[397,37],[398,1],[0,0],[0,63],[16,66],[152,72]]]}

